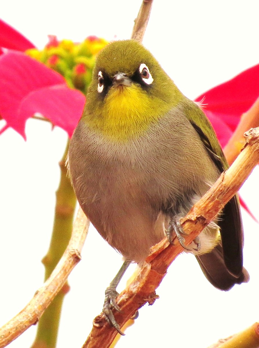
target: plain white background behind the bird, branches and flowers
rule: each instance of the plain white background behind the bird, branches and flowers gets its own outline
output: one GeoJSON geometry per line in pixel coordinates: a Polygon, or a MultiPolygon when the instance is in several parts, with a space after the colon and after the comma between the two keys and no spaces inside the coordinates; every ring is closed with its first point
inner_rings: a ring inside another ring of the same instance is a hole
{"type": "MultiPolygon", "coordinates": [[[[47,34],[74,41],[90,34],[126,39],[140,3],[10,1],[1,6],[1,18],[39,48],[47,34]]],[[[143,43],[182,92],[195,98],[258,64],[258,2],[154,0],[143,43]]],[[[41,259],[48,250],[58,161],[66,144],[64,131],[57,127],[52,131],[46,122],[28,120],[26,135],[27,142],[13,130],[0,136],[0,325],[18,313],[42,285],[41,259]]],[[[241,190],[257,219],[258,173],[256,169],[241,190]]],[[[242,213],[244,266],[250,282],[220,292],[207,282],[192,255],[180,255],[157,289],[160,299],[140,309],[118,348],[205,348],[259,320],[258,224],[242,213]]],[[[62,309],[59,348],[83,345],[92,319],[102,309],[104,290],[121,265],[121,256],[93,228],[82,258],[69,277],[71,290],[62,309]]],[[[9,347],[28,348],[35,332],[36,327],[31,327],[9,347]]]]}

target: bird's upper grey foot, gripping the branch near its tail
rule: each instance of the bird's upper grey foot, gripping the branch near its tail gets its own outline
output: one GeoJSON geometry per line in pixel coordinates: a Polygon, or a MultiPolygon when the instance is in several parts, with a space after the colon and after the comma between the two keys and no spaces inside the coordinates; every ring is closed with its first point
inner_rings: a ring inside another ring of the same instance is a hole
{"type": "Polygon", "coordinates": [[[165,230],[166,233],[166,237],[169,241],[170,244],[174,244],[173,243],[173,234],[172,231],[174,231],[176,238],[178,239],[179,243],[181,244],[181,246],[188,251],[199,251],[200,250],[200,239],[199,237],[196,237],[193,242],[196,244],[196,248],[192,248],[189,247],[187,245],[185,245],[185,239],[183,236],[187,236],[187,234],[183,231],[182,226],[181,226],[181,222],[178,218],[174,217],[173,219],[171,219],[170,223],[169,223],[169,228],[167,230],[165,230]]]}

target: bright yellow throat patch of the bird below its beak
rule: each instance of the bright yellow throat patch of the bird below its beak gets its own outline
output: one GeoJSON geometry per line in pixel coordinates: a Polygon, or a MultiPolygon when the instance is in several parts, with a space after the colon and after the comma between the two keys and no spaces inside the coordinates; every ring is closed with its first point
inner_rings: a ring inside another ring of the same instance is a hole
{"type": "MultiPolygon", "coordinates": [[[[172,103],[174,104],[174,103],[172,103]]],[[[115,142],[125,142],[142,135],[172,107],[150,96],[140,86],[111,87],[103,103],[87,115],[87,124],[115,142]]]]}

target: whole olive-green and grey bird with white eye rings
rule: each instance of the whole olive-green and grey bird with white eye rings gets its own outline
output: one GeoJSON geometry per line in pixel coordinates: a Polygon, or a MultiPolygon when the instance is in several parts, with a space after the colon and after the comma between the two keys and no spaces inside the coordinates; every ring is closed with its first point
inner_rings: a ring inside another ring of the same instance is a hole
{"type": "Polygon", "coordinates": [[[228,168],[215,132],[197,103],[184,96],[154,56],[135,40],[110,42],[96,57],[68,166],[86,216],[123,256],[105,291],[107,321],[123,334],[112,310],[130,263],[174,233],[196,256],[209,282],[227,291],[247,282],[243,229],[235,195],[192,244],[180,219],[228,168]]]}

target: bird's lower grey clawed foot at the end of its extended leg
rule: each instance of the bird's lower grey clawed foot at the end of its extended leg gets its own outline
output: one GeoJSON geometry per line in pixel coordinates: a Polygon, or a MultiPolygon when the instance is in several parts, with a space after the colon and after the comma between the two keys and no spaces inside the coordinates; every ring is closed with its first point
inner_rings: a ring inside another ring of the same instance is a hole
{"type": "Polygon", "coordinates": [[[119,324],[116,322],[114,315],[112,313],[112,309],[115,309],[118,312],[121,312],[120,307],[116,303],[116,297],[119,293],[116,291],[115,287],[108,286],[105,290],[105,299],[103,304],[103,314],[105,316],[106,321],[114,327],[122,336],[124,333],[120,330],[119,324]]]}

